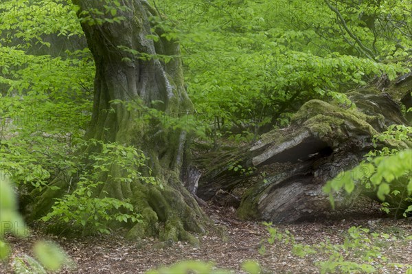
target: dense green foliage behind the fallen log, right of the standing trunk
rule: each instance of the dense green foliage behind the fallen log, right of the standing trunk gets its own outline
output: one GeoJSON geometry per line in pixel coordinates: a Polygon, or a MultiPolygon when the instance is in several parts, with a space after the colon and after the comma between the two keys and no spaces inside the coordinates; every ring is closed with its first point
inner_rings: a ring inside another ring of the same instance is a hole
{"type": "Polygon", "coordinates": [[[345,102],[346,91],[403,70],[397,60],[412,45],[407,1],[362,2],[336,7],[361,45],[324,1],[156,4],[176,22],[160,24],[165,35],[181,39],[188,92],[200,119],[221,133],[250,136],[268,123],[286,126],[307,100],[345,102]],[[374,27],[365,22],[369,17],[374,27]]]}

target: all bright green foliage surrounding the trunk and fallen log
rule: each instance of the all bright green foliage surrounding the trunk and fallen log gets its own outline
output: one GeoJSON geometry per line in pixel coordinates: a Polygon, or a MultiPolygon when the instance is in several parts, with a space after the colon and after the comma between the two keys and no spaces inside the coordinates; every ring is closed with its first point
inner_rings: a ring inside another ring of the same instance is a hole
{"type": "MultiPolygon", "coordinates": [[[[119,1],[104,3],[105,12],[92,11],[84,20],[95,23],[91,19],[98,16],[97,23],[122,21],[116,17],[117,10],[126,7],[119,1]],[[108,14],[113,18],[106,18],[108,14]]],[[[165,38],[181,41],[185,82],[196,109],[195,117],[162,121],[209,140],[222,135],[235,141],[254,140],[273,127],[287,126],[291,115],[310,99],[349,107],[347,91],[365,86],[382,73],[393,80],[411,66],[412,8],[407,0],[153,3],[162,15],[151,18],[152,23],[163,30],[165,38]]],[[[0,179],[4,174],[10,176],[23,201],[62,176],[73,185],[42,220],[69,224],[76,231],[108,233],[113,221],[141,220],[129,201],[96,194],[105,181],[100,173],[115,163],[120,170],[111,179],[117,183],[159,182],[146,168],[148,159],[139,148],[82,140],[91,116],[95,67],[77,10],[68,0],[0,3],[0,179]],[[80,156],[78,152],[93,142],[101,152],[80,156]]],[[[168,62],[167,56],[139,58],[168,62]]],[[[382,201],[389,195],[400,197],[396,205],[383,203],[385,211],[408,214],[412,211],[412,151],[394,147],[407,148],[396,145],[410,136],[411,128],[404,126],[393,126],[376,136],[376,141],[386,141],[387,146],[369,152],[363,163],[340,174],[325,190],[352,192],[360,183],[382,201]]],[[[238,164],[231,168],[251,171],[238,164]]],[[[20,235],[23,230],[12,228],[25,225],[16,213],[12,188],[3,180],[0,187],[0,223],[14,224],[0,227],[0,258],[6,258],[5,232],[20,235]]],[[[300,255],[325,253],[328,260],[319,262],[322,272],[374,271],[369,263],[380,254],[376,242],[387,237],[352,228],[345,244],[302,247],[288,233],[270,228],[269,232],[272,242],[288,241],[300,255]],[[341,252],[361,245],[371,247],[359,254],[363,262],[342,260],[341,252]]],[[[56,250],[54,245],[39,243],[34,247],[37,260],[28,255],[14,258],[16,271],[58,269],[65,260],[56,250]]],[[[249,273],[258,273],[256,267],[244,265],[249,273]]],[[[152,273],[183,269],[217,272],[209,264],[188,262],[152,273]]]]}

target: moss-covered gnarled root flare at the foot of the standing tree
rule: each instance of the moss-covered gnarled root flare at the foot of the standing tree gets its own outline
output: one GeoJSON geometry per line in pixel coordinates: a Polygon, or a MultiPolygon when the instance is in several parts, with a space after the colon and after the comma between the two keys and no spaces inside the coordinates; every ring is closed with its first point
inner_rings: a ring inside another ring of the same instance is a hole
{"type": "Polygon", "coordinates": [[[186,240],[198,245],[189,231],[205,233],[207,217],[178,178],[163,187],[138,185],[132,203],[143,216],[128,232],[128,238],[159,236],[161,240],[186,240]]]}

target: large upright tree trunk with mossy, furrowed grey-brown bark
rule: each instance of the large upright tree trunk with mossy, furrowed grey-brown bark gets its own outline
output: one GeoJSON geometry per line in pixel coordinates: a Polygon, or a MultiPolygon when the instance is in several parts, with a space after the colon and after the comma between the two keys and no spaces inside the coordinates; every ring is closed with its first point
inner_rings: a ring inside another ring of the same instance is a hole
{"type": "MultiPolygon", "coordinates": [[[[205,216],[181,183],[188,135],[184,130],[163,128],[157,119],[148,121],[143,113],[145,107],[172,117],[192,113],[192,102],[183,86],[181,60],[176,58],[179,43],[162,37],[159,28],[152,32],[149,17],[158,14],[147,1],[122,2],[127,9],[117,9],[115,15],[124,16],[121,23],[98,23],[113,19],[108,14],[92,12],[97,9],[107,13],[102,1],[73,0],[80,6],[80,19],[84,17],[81,12],[91,14],[91,19],[82,22],[82,28],[96,67],[93,115],[86,138],[136,146],[150,157],[148,165],[162,181],[163,189],[142,182],[117,183],[106,179],[102,193],[121,200],[131,198],[136,211],[144,216],[144,222],[130,230],[130,237],[156,236],[161,223],[165,240],[190,238],[186,231],[203,231],[205,216]],[[159,41],[147,38],[149,34],[159,41]],[[172,60],[165,63],[157,55],[171,56],[172,60]],[[113,100],[125,103],[115,104],[113,100]]],[[[90,147],[83,153],[97,149],[90,147]]],[[[113,167],[108,173],[115,177],[116,172],[119,168],[113,167]]],[[[110,176],[102,174],[103,177],[110,176]]],[[[67,189],[63,180],[54,184],[60,190],[47,190],[34,215],[47,210],[52,197],[67,189]]]]}

